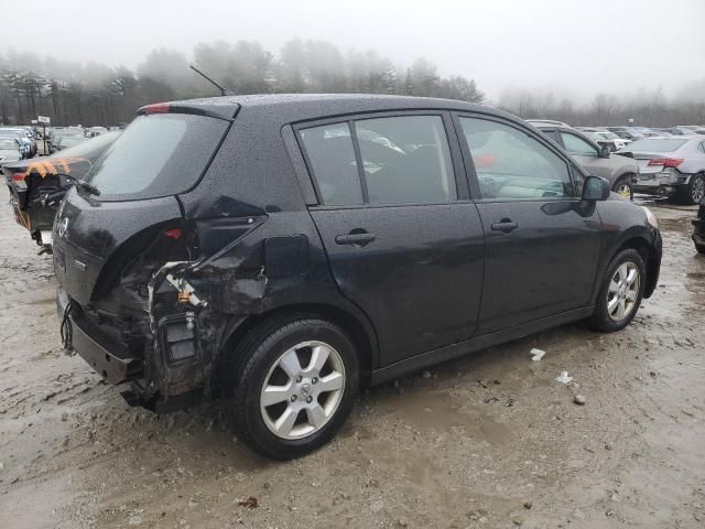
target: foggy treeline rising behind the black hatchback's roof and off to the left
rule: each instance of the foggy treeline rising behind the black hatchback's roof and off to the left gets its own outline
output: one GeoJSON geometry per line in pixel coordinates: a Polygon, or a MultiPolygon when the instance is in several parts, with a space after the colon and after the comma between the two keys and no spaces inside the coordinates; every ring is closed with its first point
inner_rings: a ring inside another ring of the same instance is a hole
{"type": "Polygon", "coordinates": [[[134,71],[10,51],[0,54],[0,121],[28,123],[39,115],[55,125],[110,126],[130,121],[142,105],[217,95],[189,63],[235,94],[402,94],[474,102],[485,98],[474,80],[441,77],[423,58],[403,66],[373,51],[344,53],[328,42],[300,39],[286,42],[276,55],[248,41],[200,43],[193,60],[160,48],[134,71]]]}

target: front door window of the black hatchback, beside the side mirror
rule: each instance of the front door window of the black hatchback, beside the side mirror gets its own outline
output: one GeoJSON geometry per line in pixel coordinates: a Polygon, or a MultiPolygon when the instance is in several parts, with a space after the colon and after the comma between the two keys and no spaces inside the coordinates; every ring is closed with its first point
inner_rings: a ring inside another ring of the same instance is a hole
{"type": "Polygon", "coordinates": [[[460,118],[480,198],[490,201],[574,197],[567,164],[527,132],[478,118],[460,118]]]}

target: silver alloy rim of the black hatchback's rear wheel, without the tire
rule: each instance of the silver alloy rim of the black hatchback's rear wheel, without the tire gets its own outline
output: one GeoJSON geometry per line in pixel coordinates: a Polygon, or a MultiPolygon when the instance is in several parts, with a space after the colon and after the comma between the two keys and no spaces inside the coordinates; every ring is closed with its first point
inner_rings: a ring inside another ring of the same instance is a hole
{"type": "Polygon", "coordinates": [[[264,424],[285,440],[319,431],[335,414],[345,390],[345,365],[330,345],[302,342],[270,368],[260,392],[264,424]]]}

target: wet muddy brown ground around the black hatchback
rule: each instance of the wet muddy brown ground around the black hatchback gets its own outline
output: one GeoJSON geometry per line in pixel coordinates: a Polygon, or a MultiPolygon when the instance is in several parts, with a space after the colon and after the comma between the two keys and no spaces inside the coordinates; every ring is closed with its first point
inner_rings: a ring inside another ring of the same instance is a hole
{"type": "Polygon", "coordinates": [[[217,403],[131,409],[63,355],[51,260],[3,205],[0,526],[703,528],[705,258],[694,208],[654,210],[662,276],[626,331],[567,325],[371,389],[330,445],[273,463],[217,403]]]}

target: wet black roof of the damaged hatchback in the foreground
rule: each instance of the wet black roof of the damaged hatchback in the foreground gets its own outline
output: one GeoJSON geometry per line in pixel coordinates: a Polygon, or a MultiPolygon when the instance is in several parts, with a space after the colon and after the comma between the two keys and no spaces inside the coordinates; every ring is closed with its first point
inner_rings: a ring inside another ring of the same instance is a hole
{"type": "MultiPolygon", "coordinates": [[[[372,94],[272,94],[251,96],[223,96],[202,99],[169,101],[165,105],[202,108],[220,117],[231,118],[238,108],[267,112],[282,125],[306,121],[327,116],[364,114],[386,110],[465,110],[501,116],[522,122],[516,116],[496,108],[456,99],[432,97],[384,96],[372,94]]],[[[140,111],[147,109],[142,107],[140,111]]],[[[139,111],[138,111],[139,112],[139,111]]]]}

